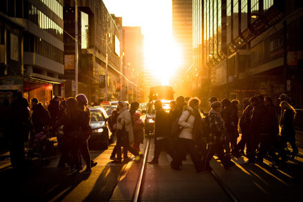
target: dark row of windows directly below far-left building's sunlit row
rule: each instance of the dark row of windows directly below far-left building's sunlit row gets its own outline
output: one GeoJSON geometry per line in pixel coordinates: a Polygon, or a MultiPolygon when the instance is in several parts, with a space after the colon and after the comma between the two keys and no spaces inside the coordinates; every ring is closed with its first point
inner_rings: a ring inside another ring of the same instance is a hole
{"type": "Polygon", "coordinates": [[[23,47],[24,52],[35,52],[36,54],[63,64],[63,50],[52,46],[50,43],[34,35],[25,35],[23,47]]]}

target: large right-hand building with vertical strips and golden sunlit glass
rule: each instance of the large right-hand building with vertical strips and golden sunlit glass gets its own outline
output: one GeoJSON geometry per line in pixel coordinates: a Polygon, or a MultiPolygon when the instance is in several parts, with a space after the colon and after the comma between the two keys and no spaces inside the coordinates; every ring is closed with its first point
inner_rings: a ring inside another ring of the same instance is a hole
{"type": "Polygon", "coordinates": [[[279,95],[286,93],[295,108],[302,108],[301,1],[195,3],[204,4],[203,10],[194,11],[194,32],[204,36],[202,50],[200,41],[194,43],[194,63],[202,65],[199,74],[205,82],[202,98],[242,101],[263,94],[278,102],[279,95]],[[204,28],[195,26],[195,20],[203,20],[204,28]]]}

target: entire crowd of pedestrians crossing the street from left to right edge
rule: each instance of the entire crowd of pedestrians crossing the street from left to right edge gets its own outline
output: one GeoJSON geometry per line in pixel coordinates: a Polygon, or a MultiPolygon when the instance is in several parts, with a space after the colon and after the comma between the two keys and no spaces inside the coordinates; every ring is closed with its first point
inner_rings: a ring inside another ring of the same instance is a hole
{"type": "MultiPolygon", "coordinates": [[[[249,159],[246,164],[262,163],[269,156],[274,165],[287,160],[288,142],[292,148],[289,157],[297,155],[293,126],[296,112],[286,94],[280,96],[280,122],[278,108],[273,105],[271,97],[260,95],[244,99],[242,109],[239,109],[238,100],[218,101],[216,97],[211,97],[209,101],[211,110],[208,113],[200,110],[198,98],[179,96],[176,101],[170,102],[169,112],[163,109],[160,100],[154,101],[155,148],[154,158],[149,163],[158,164],[160,151],[164,149],[172,158],[171,169],[174,170],[181,170],[187,152],[191,155],[196,172],[212,170],[209,162],[215,153],[225,169],[235,165],[231,156],[239,158],[246,155],[249,159]],[[242,115],[239,122],[240,110],[242,115]],[[242,134],[239,142],[238,125],[242,134]]],[[[32,148],[37,134],[49,132],[57,137],[61,150],[58,168],[65,168],[67,164],[70,167],[67,175],[79,174],[83,170],[82,156],[86,163],[82,173],[91,173],[97,163],[91,159],[87,146],[92,134],[87,103],[84,94],[61,101],[54,97],[48,109],[45,109],[36,98],[32,98],[29,105],[20,91],[14,92],[11,103],[4,100],[0,108],[0,126],[3,135],[10,141],[12,167],[26,170],[25,141],[29,139],[29,147],[32,148]],[[59,133],[58,128],[62,125],[63,132],[59,133]]],[[[144,140],[144,123],[137,112],[138,108],[136,101],[130,105],[118,101],[117,109],[107,119],[109,130],[117,139],[110,156],[112,163],[131,160],[128,151],[134,154],[135,161],[144,157],[140,151],[140,144],[144,140]]]]}

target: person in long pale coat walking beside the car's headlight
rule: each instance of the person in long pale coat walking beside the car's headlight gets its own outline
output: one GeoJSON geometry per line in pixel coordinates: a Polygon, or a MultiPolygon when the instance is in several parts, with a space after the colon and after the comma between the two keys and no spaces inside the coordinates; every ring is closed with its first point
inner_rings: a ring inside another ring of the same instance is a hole
{"type": "Polygon", "coordinates": [[[132,117],[127,110],[127,104],[124,101],[119,101],[118,102],[118,118],[117,118],[117,143],[116,147],[117,148],[117,160],[113,161],[114,163],[121,163],[121,146],[123,147],[124,150],[128,150],[134,156],[136,156],[136,160],[140,159],[139,153],[132,148],[129,143],[134,142],[134,131],[132,128],[132,117]],[[123,139],[121,137],[121,131],[123,131],[123,125],[125,126],[125,130],[127,132],[127,138],[123,139]]]}

